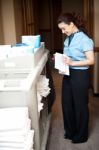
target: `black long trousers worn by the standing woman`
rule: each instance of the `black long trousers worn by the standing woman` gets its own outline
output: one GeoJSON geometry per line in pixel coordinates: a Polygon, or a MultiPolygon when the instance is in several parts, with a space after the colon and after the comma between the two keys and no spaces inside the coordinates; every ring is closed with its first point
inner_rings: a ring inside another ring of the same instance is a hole
{"type": "Polygon", "coordinates": [[[69,137],[83,140],[88,137],[88,70],[70,69],[62,82],[64,129],[69,137]]]}

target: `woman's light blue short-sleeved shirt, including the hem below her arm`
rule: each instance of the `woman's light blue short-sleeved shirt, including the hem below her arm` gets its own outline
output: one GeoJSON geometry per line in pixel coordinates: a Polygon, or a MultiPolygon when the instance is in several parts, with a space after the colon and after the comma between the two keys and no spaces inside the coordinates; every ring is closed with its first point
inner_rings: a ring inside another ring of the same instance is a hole
{"type": "MultiPolygon", "coordinates": [[[[64,41],[63,53],[73,61],[85,60],[85,51],[93,50],[94,43],[85,33],[77,32],[74,34],[71,43],[68,45],[69,37],[64,41]]],[[[89,66],[70,66],[73,69],[88,69],[89,66]]]]}

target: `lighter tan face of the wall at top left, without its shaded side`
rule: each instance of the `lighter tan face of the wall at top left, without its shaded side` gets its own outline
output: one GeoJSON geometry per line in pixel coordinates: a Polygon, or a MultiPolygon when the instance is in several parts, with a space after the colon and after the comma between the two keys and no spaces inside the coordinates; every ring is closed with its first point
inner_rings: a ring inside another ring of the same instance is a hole
{"type": "Polygon", "coordinates": [[[13,0],[1,0],[4,43],[16,42],[13,0]]]}

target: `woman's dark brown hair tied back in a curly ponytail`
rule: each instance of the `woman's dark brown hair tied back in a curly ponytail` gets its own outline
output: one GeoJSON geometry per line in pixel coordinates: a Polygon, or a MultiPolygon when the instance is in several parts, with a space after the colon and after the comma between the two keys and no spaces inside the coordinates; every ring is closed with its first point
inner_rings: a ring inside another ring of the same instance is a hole
{"type": "Polygon", "coordinates": [[[76,14],[74,12],[73,13],[69,13],[69,12],[63,13],[58,17],[57,22],[58,22],[58,24],[61,22],[64,22],[66,24],[70,24],[71,22],[73,22],[79,30],[81,30],[87,34],[87,30],[85,28],[85,21],[80,16],[80,14],[76,14]]]}

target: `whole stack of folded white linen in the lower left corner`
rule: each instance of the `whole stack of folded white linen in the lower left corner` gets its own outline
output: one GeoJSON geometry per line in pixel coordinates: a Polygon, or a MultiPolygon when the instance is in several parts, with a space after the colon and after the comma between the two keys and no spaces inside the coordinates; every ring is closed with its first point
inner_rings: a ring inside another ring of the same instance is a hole
{"type": "Polygon", "coordinates": [[[0,109],[0,150],[33,150],[33,138],[27,107],[0,109]]]}

